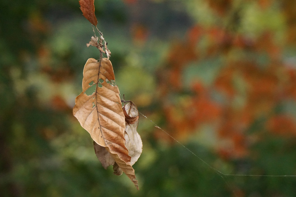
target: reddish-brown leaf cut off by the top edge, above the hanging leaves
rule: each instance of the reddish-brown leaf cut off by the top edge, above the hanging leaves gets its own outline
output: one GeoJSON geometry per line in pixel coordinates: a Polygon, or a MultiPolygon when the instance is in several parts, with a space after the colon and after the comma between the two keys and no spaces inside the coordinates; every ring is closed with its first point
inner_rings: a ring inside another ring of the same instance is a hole
{"type": "Polygon", "coordinates": [[[79,5],[83,16],[88,19],[91,24],[96,26],[98,21],[94,14],[94,0],[80,0],[79,5]]]}

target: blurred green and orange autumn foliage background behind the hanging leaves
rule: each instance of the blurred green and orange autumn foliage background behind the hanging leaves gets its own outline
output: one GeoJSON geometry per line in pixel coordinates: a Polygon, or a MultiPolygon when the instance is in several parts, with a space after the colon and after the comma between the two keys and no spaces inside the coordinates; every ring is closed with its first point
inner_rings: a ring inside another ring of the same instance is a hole
{"type": "MultiPolygon", "coordinates": [[[[295,0],[95,0],[121,96],[224,174],[296,175],[295,0]]],[[[0,196],[296,196],[221,176],[141,116],[143,153],[104,170],[72,115],[99,58],[78,0],[0,2],[0,196]]]]}

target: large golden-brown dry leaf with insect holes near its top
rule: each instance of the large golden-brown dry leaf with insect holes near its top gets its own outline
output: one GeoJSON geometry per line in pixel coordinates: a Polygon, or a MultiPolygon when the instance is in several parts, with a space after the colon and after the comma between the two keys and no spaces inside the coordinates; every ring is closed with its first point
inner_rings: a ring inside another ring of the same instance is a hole
{"type": "MultiPolygon", "coordinates": [[[[82,89],[83,92],[75,99],[73,115],[139,189],[131,167],[131,156],[125,146],[125,116],[111,61],[107,58],[101,58],[100,62],[88,59],[83,70],[82,89]]],[[[108,159],[104,165],[110,163],[108,159]]],[[[115,169],[116,165],[113,165],[115,169]]]]}

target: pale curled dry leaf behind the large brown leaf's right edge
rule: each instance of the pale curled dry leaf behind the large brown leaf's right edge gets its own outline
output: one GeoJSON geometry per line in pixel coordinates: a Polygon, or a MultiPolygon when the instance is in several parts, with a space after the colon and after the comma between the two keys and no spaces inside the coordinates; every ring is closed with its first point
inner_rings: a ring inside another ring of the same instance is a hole
{"type": "Polygon", "coordinates": [[[139,159],[143,149],[141,136],[137,132],[139,112],[137,106],[133,102],[128,101],[123,106],[123,113],[125,114],[126,120],[127,116],[129,117],[128,120],[132,120],[130,122],[126,121],[124,134],[126,140],[125,146],[128,149],[128,155],[131,156],[131,162],[129,162],[129,164],[132,166],[139,159]]]}

